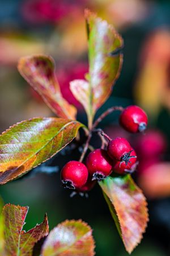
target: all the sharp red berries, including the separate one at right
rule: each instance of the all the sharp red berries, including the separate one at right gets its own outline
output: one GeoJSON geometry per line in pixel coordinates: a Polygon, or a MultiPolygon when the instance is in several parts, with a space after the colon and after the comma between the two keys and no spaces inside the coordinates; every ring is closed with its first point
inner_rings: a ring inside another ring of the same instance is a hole
{"type": "MultiPolygon", "coordinates": [[[[128,106],[120,115],[120,124],[131,133],[144,131],[147,126],[147,115],[138,106],[128,106]]],[[[112,172],[117,174],[131,173],[137,166],[137,154],[130,143],[121,137],[109,139],[107,148],[98,148],[86,158],[86,163],[70,161],[61,171],[63,187],[75,189],[79,193],[90,191],[96,180],[103,180],[112,172]]]]}

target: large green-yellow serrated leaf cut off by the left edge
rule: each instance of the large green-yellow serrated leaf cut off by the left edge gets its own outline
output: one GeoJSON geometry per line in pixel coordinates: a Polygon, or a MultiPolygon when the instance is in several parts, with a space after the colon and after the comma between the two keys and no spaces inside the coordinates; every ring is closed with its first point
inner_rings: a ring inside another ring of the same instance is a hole
{"type": "Polygon", "coordinates": [[[0,184],[48,160],[78,133],[82,123],[63,118],[32,118],[0,135],[0,184]]]}

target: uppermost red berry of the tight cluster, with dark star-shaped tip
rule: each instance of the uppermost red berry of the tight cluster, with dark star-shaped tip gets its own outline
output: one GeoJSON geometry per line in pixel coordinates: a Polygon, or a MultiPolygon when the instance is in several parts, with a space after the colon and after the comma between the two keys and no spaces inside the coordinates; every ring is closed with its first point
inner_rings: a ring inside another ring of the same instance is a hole
{"type": "Polygon", "coordinates": [[[122,160],[130,150],[130,143],[125,138],[117,137],[108,143],[108,155],[113,159],[122,160]]]}

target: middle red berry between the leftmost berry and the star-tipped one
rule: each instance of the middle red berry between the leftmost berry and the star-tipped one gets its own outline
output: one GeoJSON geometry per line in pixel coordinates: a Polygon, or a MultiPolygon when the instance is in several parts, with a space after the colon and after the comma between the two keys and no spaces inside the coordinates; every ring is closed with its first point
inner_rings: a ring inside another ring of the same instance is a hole
{"type": "Polygon", "coordinates": [[[112,172],[112,160],[107,151],[100,148],[87,156],[86,166],[92,180],[102,180],[112,172]]]}

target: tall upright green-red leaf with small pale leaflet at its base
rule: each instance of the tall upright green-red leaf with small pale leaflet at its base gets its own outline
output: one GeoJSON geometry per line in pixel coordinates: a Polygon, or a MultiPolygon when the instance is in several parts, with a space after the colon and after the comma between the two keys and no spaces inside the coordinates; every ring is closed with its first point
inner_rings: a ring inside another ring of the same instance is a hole
{"type": "Polygon", "coordinates": [[[96,110],[108,99],[112,88],[122,67],[123,40],[121,36],[105,20],[97,18],[91,11],[85,11],[88,33],[88,59],[89,73],[86,76],[88,83],[78,82],[72,85],[72,92],[82,105],[85,105],[84,98],[79,94],[89,98],[86,102],[86,111],[88,115],[89,126],[92,126],[92,120],[96,110]],[[86,92],[85,92],[86,89],[86,92]],[[82,91],[82,92],[80,92],[82,91]],[[87,110],[88,109],[88,110],[87,110]]]}

